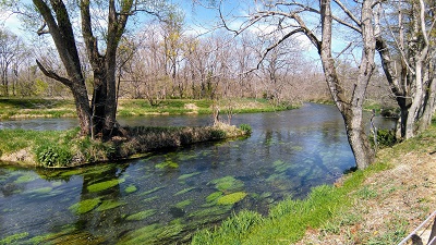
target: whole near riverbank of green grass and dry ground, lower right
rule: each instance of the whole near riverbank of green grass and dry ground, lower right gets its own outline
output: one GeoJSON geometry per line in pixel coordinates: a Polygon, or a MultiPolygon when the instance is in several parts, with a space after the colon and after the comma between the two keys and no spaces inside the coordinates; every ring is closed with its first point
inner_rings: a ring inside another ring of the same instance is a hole
{"type": "Polygon", "coordinates": [[[266,217],[243,211],[193,244],[398,244],[436,210],[436,125],[378,152],[368,169],[266,217]]]}

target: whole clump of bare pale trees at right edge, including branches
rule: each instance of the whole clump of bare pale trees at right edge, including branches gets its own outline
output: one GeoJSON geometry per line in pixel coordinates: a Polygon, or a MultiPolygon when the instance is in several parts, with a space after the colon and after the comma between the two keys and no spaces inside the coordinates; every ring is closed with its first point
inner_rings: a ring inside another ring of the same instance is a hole
{"type": "Polygon", "coordinates": [[[377,9],[377,51],[401,114],[397,137],[425,130],[435,111],[435,2],[387,1],[377,9]],[[384,8],[382,8],[384,7],[384,8]]]}

